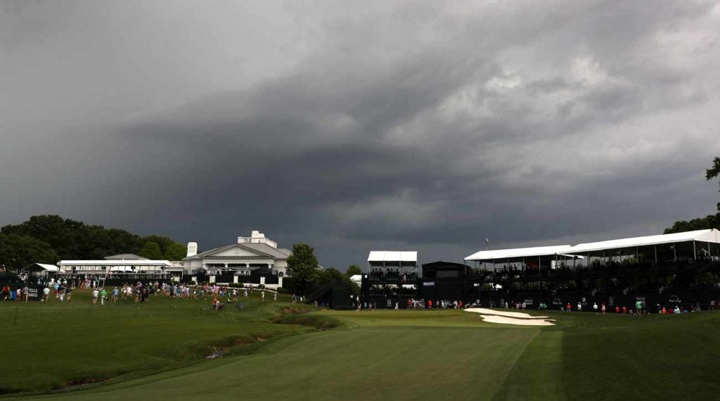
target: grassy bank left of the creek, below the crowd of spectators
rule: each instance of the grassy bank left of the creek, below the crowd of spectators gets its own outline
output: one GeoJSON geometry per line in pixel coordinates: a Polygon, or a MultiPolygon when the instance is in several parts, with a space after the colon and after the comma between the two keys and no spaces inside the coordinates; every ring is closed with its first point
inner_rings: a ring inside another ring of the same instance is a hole
{"type": "MultiPolygon", "coordinates": [[[[281,297],[281,300],[287,300],[281,297]]],[[[283,305],[261,302],[258,294],[240,299],[238,310],[210,309],[210,299],[169,299],[150,302],[120,299],[117,304],[92,305],[89,292],[76,291],[72,302],[0,302],[0,393],[49,389],[127,379],[175,369],[212,353],[243,353],[277,336],[305,328],[273,325],[283,305]],[[250,345],[250,346],[248,346],[250,345]]]]}

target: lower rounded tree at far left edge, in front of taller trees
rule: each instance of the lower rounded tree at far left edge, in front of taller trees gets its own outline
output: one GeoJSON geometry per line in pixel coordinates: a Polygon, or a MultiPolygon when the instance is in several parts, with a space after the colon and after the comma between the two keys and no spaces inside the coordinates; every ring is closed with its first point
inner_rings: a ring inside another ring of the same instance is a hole
{"type": "Polygon", "coordinates": [[[0,264],[19,270],[31,263],[54,264],[58,254],[48,243],[27,235],[0,234],[0,264]]]}

